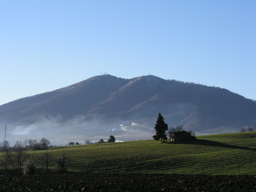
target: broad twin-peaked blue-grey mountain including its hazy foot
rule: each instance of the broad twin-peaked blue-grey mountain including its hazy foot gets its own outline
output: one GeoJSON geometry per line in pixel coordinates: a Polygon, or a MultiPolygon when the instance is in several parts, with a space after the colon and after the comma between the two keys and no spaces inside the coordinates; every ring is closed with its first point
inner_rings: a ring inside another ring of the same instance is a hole
{"type": "Polygon", "coordinates": [[[0,106],[0,123],[8,124],[13,136],[54,132],[78,139],[86,133],[84,137],[115,134],[132,140],[152,137],[159,112],[169,127],[182,124],[201,134],[256,125],[253,100],[226,89],[153,75],[132,79],[95,76],[18,99],[0,106]]]}

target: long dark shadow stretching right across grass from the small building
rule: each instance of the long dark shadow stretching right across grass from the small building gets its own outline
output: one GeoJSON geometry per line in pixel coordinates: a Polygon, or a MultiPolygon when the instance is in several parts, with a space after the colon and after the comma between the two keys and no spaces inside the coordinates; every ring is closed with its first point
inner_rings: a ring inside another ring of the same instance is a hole
{"type": "Polygon", "coordinates": [[[205,139],[195,139],[190,141],[180,141],[180,142],[169,142],[173,144],[194,144],[194,145],[208,145],[208,146],[218,146],[218,147],[225,147],[225,148],[235,148],[237,150],[250,150],[250,151],[256,151],[254,148],[244,147],[244,146],[236,146],[236,145],[229,145],[222,142],[217,141],[209,141],[205,139]]]}

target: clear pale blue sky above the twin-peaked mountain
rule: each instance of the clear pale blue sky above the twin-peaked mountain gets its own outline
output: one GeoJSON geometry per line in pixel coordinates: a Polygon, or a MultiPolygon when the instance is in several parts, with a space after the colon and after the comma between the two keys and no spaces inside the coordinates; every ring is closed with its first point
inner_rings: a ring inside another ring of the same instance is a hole
{"type": "Polygon", "coordinates": [[[148,73],[256,100],[256,1],[2,1],[0,104],[148,73]]]}

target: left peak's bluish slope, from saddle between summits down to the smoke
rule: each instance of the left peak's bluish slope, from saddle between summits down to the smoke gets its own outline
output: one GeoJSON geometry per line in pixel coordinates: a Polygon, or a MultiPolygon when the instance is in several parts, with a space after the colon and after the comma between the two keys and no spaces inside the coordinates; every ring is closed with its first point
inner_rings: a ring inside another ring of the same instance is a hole
{"type": "Polygon", "coordinates": [[[126,81],[110,75],[97,76],[66,88],[18,99],[0,106],[0,121],[23,123],[29,119],[28,123],[31,123],[40,115],[58,114],[63,120],[73,118],[103,101],[126,81]]]}

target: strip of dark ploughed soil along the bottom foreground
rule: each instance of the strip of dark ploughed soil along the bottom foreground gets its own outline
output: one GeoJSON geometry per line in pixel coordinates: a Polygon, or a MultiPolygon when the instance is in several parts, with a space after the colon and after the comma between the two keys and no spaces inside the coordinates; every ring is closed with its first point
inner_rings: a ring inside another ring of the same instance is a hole
{"type": "Polygon", "coordinates": [[[0,191],[256,191],[255,176],[77,174],[0,176],[0,191]]]}

